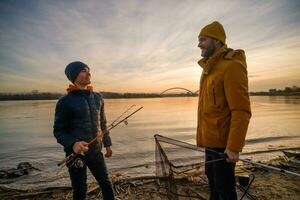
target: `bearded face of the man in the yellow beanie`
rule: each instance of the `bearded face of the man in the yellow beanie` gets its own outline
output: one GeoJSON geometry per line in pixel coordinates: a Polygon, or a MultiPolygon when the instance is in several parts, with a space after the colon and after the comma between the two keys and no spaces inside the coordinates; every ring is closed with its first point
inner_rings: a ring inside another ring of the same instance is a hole
{"type": "Polygon", "coordinates": [[[198,47],[201,49],[202,57],[209,58],[215,53],[217,48],[214,39],[206,36],[199,36],[198,40],[199,40],[198,47]]]}

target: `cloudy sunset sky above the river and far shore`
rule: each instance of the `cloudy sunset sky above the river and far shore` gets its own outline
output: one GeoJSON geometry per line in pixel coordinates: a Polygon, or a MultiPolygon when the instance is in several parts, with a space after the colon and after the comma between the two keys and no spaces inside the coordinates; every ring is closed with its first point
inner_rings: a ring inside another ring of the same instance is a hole
{"type": "Polygon", "coordinates": [[[89,65],[97,91],[199,88],[198,34],[215,20],[244,49],[249,91],[300,86],[300,1],[0,1],[0,92],[65,92],[89,65]]]}

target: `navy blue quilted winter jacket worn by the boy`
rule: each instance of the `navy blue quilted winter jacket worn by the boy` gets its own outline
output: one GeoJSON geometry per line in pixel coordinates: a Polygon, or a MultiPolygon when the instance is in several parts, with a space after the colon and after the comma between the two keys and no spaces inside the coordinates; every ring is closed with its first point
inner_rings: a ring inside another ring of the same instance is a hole
{"type": "MultiPolygon", "coordinates": [[[[74,90],[61,97],[55,110],[53,133],[67,154],[77,141],[91,141],[97,132],[106,130],[104,101],[98,93],[74,90]]],[[[104,147],[111,146],[109,134],[103,137],[104,147]]]]}

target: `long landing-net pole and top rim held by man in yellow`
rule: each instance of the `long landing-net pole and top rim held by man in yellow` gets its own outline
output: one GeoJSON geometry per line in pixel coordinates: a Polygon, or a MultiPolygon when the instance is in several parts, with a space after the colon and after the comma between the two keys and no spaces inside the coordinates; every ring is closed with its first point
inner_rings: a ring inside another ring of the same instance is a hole
{"type": "MultiPolygon", "coordinates": [[[[187,143],[187,142],[182,142],[182,141],[175,140],[175,139],[172,139],[172,138],[168,138],[168,137],[165,137],[165,136],[161,136],[161,135],[158,135],[158,134],[154,135],[154,137],[155,137],[156,140],[160,140],[161,142],[165,142],[165,143],[169,143],[169,144],[181,146],[181,147],[192,149],[192,150],[195,150],[195,151],[205,152],[205,150],[203,149],[203,147],[198,147],[197,145],[194,145],[194,144],[190,144],[190,143],[187,143]],[[160,139],[158,139],[158,138],[160,138],[160,139]]],[[[207,150],[209,150],[209,151],[211,151],[213,153],[219,154],[220,156],[224,156],[223,159],[227,158],[227,155],[224,154],[224,153],[213,151],[211,149],[207,149],[207,150]]],[[[254,161],[247,160],[247,159],[239,158],[239,160],[242,161],[242,162],[250,163],[250,164],[253,164],[253,165],[257,165],[257,166],[260,166],[260,167],[263,167],[263,168],[266,168],[266,169],[269,169],[269,170],[274,170],[274,171],[281,172],[281,173],[284,173],[284,174],[288,174],[288,175],[300,177],[299,173],[291,172],[289,170],[285,170],[285,169],[281,169],[281,168],[278,168],[278,167],[269,166],[269,165],[266,165],[266,164],[254,162],[254,161]]]]}

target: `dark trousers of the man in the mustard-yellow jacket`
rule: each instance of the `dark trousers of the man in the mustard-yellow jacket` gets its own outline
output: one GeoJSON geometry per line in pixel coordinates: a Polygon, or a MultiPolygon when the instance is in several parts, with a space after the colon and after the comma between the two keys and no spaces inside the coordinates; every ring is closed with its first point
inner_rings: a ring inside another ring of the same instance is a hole
{"type": "Polygon", "coordinates": [[[236,200],[237,194],[235,189],[235,163],[228,163],[226,159],[221,159],[224,148],[206,148],[205,149],[205,174],[208,178],[210,188],[210,200],[236,200]],[[218,153],[216,153],[218,152],[218,153]]]}

